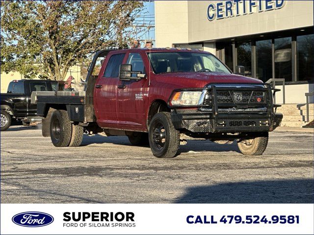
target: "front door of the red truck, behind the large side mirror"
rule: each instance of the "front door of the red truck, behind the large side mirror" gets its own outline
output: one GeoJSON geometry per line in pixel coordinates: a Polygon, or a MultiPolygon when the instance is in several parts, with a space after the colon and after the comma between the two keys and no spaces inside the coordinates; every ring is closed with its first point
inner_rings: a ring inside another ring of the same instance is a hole
{"type": "MultiPolygon", "coordinates": [[[[132,71],[145,73],[145,66],[140,53],[130,53],[126,64],[132,65],[132,71]]],[[[136,74],[132,74],[136,76],[136,74]]],[[[118,82],[117,115],[120,128],[137,131],[146,130],[145,113],[148,102],[148,79],[118,82]],[[146,104],[146,105],[145,105],[146,104]],[[126,128],[127,127],[127,128],[126,128]]]]}

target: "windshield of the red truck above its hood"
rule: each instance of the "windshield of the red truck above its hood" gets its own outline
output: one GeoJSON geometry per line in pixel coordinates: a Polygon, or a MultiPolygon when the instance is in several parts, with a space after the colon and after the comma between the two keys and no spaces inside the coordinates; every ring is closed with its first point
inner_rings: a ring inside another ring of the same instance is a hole
{"type": "Polygon", "coordinates": [[[230,74],[215,56],[192,52],[150,52],[148,56],[155,73],[221,72],[230,74]]]}

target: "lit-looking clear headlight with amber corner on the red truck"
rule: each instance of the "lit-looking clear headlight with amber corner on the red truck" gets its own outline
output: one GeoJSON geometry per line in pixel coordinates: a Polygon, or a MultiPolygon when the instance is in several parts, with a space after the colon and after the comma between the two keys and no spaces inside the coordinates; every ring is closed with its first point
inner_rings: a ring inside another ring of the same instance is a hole
{"type": "Polygon", "coordinates": [[[202,92],[176,92],[173,94],[170,104],[173,106],[180,105],[198,105],[200,104],[202,92]]]}

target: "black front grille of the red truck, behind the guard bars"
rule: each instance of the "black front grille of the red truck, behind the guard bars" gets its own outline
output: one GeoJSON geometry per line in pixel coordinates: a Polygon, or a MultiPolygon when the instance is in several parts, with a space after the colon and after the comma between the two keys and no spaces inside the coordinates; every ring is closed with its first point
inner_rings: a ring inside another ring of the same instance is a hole
{"type": "MultiPolygon", "coordinates": [[[[254,91],[216,91],[217,104],[264,104],[265,92],[254,91]]],[[[203,105],[211,105],[211,91],[206,93],[203,105]]]]}

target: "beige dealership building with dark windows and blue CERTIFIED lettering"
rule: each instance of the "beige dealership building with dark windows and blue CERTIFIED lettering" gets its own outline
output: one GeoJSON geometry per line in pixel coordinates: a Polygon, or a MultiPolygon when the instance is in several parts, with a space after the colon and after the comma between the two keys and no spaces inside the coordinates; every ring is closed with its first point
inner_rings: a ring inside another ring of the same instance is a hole
{"type": "Polygon", "coordinates": [[[155,1],[156,47],[201,49],[233,71],[244,66],[246,76],[285,79],[276,102],[306,103],[314,90],[313,7],[312,0],[155,1]]]}

